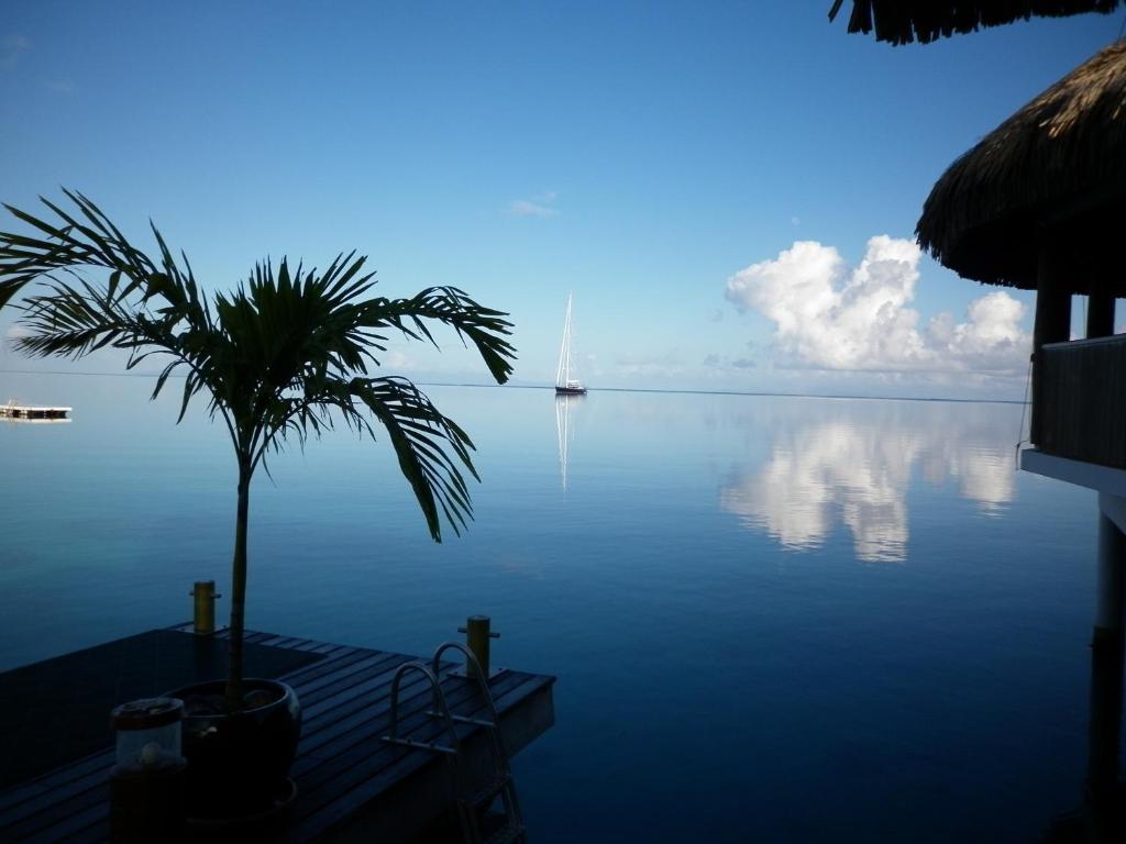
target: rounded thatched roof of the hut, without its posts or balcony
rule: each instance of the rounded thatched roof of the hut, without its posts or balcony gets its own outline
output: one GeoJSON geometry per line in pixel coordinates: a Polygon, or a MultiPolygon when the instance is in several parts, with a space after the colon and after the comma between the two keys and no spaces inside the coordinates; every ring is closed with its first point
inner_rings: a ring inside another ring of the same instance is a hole
{"type": "Polygon", "coordinates": [[[959,276],[1033,289],[1040,244],[1072,290],[1108,279],[1126,296],[1126,39],[1017,111],[935,183],[919,244],[959,276]]]}

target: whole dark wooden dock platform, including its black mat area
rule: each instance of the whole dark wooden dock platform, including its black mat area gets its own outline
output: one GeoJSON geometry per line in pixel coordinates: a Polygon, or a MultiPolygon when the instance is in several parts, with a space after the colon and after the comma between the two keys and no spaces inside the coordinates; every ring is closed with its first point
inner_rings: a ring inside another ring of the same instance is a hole
{"type": "MultiPolygon", "coordinates": [[[[224,673],[226,634],[197,636],[191,629],[151,630],[0,674],[6,744],[15,742],[0,757],[0,841],[107,839],[115,760],[109,709],[224,673]]],[[[445,760],[382,740],[395,671],[418,657],[268,632],[248,631],[244,641],[248,676],[288,683],[303,713],[291,771],[296,797],[282,827],[256,841],[410,841],[448,817],[454,801],[445,760]]],[[[450,710],[480,716],[483,697],[461,670],[444,662],[439,672],[450,710]]],[[[553,725],[554,682],[543,674],[492,672],[489,686],[510,754],[553,725]]],[[[441,727],[427,715],[430,702],[425,682],[404,680],[402,735],[441,738],[441,727]]],[[[463,771],[486,778],[484,728],[464,724],[457,730],[463,771]]]]}

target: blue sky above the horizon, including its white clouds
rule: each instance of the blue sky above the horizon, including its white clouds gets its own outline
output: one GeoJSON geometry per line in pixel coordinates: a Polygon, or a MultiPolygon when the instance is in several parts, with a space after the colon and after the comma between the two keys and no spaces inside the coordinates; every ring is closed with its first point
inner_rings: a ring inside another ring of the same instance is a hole
{"type": "MultiPolygon", "coordinates": [[[[553,379],[574,290],[592,387],[1019,398],[1031,297],[900,240],[1126,16],[893,48],[830,6],[9,0],[0,199],[151,217],[220,288],[357,249],[385,295],[510,312],[516,383],[553,379]]],[[[388,362],[485,378],[453,338],[388,362]]]]}

